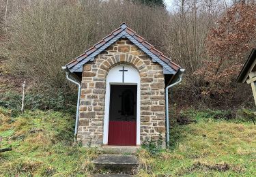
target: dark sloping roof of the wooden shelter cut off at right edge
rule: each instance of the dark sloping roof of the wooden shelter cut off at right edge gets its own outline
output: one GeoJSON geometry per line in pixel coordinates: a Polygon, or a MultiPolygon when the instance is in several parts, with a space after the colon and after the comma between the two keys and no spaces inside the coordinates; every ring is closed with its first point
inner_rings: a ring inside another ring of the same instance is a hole
{"type": "Polygon", "coordinates": [[[256,48],[253,48],[251,51],[251,54],[246,60],[246,63],[244,63],[236,82],[244,83],[249,77],[251,71],[256,71],[256,48]]]}

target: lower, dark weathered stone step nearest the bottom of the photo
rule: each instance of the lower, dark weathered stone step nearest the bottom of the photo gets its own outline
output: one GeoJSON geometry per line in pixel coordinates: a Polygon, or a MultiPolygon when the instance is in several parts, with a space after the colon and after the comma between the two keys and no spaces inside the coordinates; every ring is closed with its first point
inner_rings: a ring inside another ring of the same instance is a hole
{"type": "Polygon", "coordinates": [[[113,173],[134,174],[139,161],[134,155],[104,154],[92,161],[96,172],[109,171],[113,173]]]}

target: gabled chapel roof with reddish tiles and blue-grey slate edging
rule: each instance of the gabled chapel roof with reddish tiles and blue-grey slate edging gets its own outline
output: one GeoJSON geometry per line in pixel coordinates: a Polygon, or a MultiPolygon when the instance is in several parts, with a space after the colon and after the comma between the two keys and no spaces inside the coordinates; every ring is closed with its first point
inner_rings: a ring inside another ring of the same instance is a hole
{"type": "Polygon", "coordinates": [[[100,42],[86,50],[79,57],[76,57],[76,59],[68,63],[66,67],[70,72],[81,72],[85,63],[88,61],[94,61],[94,57],[96,57],[97,54],[100,54],[100,52],[111,46],[111,44],[121,37],[128,38],[134,45],[138,46],[143,50],[143,52],[148,54],[152,58],[153,62],[157,62],[162,65],[164,74],[176,74],[180,69],[179,65],[173,63],[171,59],[166,57],[162,52],[154,48],[152,44],[130,29],[126,23],[122,23],[118,29],[112,31],[111,34],[104,37],[100,42]]]}

